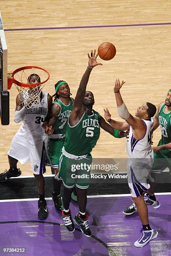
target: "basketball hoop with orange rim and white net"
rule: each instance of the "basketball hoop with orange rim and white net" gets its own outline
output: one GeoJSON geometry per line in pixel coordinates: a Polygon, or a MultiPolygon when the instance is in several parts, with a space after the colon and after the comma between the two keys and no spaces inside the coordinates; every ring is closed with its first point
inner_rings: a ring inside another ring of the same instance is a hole
{"type": "Polygon", "coordinates": [[[41,91],[45,86],[43,81],[48,79],[48,73],[41,68],[32,67],[31,69],[23,69],[16,72],[14,78],[16,81],[30,86],[25,87],[15,84],[20,95],[19,104],[22,104],[25,108],[38,108],[41,100],[41,91]],[[38,83],[41,84],[36,85],[38,83]]]}

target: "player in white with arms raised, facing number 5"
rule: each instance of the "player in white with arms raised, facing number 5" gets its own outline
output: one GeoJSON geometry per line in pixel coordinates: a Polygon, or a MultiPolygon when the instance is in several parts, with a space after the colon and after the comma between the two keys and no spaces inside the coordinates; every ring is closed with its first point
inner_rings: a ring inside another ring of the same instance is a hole
{"type": "Polygon", "coordinates": [[[143,234],[134,245],[136,247],[143,247],[158,235],[156,230],[151,230],[148,221],[147,205],[143,199],[144,193],[150,187],[147,179],[151,179],[150,172],[153,164],[153,150],[151,148],[151,138],[153,135],[152,117],[156,113],[156,107],[149,102],[143,103],[143,105],[137,108],[136,117],[133,117],[121,97],[120,89],[124,83],[123,81],[120,83],[119,79],[116,79],[113,90],[115,92],[118,114],[126,122],[112,120],[108,110],[105,110],[105,118],[113,128],[121,131],[125,131],[130,127],[127,141],[128,184],[143,225],[141,229],[143,234]]]}

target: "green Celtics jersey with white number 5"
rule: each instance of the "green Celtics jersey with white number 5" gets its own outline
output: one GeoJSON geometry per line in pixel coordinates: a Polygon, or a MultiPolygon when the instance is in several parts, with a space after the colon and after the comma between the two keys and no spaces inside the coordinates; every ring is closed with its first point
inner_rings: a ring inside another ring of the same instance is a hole
{"type": "Polygon", "coordinates": [[[87,115],[85,111],[80,121],[74,126],[70,126],[68,119],[64,147],[69,154],[87,155],[96,146],[100,136],[100,114],[95,110],[92,110],[92,113],[92,115],[87,115]]]}

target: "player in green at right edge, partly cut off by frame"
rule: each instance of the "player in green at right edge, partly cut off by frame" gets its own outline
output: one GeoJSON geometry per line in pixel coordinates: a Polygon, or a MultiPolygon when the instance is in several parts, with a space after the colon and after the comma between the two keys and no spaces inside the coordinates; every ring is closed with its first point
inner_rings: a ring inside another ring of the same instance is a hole
{"type": "MultiPolygon", "coordinates": [[[[154,118],[154,130],[160,125],[161,139],[156,147],[153,147],[154,162],[152,172],[162,172],[168,167],[171,174],[171,89],[167,93],[165,102],[158,105],[158,110],[154,118]]],[[[160,207],[160,203],[156,200],[153,189],[153,182],[150,182],[150,189],[144,197],[147,205],[151,205],[154,209],[160,207]]],[[[135,203],[123,210],[125,215],[132,215],[137,211],[135,203]]]]}

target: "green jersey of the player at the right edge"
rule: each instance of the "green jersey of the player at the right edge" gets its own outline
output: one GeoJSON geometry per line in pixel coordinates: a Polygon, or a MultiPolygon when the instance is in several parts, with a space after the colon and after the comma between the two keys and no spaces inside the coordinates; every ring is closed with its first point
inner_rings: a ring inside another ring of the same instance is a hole
{"type": "Polygon", "coordinates": [[[163,103],[158,114],[161,128],[161,145],[171,142],[171,111],[168,113],[164,112],[165,107],[166,105],[163,103]]]}

